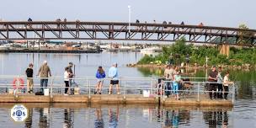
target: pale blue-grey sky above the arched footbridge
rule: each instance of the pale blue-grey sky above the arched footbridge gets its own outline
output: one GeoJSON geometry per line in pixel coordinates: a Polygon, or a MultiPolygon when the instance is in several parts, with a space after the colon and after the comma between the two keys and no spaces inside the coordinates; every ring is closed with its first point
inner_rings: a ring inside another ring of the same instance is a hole
{"type": "Polygon", "coordinates": [[[2,0],[0,19],[200,24],[256,29],[256,0],[2,0]]]}

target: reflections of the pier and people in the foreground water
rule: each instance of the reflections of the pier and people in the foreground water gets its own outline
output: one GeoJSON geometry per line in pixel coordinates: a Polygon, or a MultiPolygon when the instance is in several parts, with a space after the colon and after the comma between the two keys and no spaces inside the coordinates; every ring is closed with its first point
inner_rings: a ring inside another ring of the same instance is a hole
{"type": "MultiPolygon", "coordinates": [[[[87,104],[24,104],[29,118],[24,124],[1,119],[9,127],[225,127],[231,126],[230,108],[204,108],[188,106],[162,107],[156,105],[104,105],[87,104]],[[39,119],[39,120],[38,120],[39,119]],[[86,120],[84,120],[86,119],[86,120]],[[76,120],[76,121],[75,121],[76,120]],[[205,121],[204,121],[205,120],[205,121]]],[[[13,104],[1,104],[0,117],[13,104]],[[4,110],[6,108],[6,110],[4,110]]],[[[9,114],[8,114],[9,115],[9,114]]]]}

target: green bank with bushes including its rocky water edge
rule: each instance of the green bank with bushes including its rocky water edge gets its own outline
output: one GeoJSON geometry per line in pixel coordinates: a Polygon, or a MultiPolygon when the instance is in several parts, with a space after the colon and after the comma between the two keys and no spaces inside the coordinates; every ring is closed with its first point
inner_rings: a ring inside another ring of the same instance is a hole
{"type": "Polygon", "coordinates": [[[229,56],[226,56],[220,53],[219,45],[186,44],[184,38],[164,46],[163,52],[158,55],[145,55],[136,64],[127,64],[127,67],[165,67],[169,63],[186,67],[187,58],[189,68],[202,69],[213,65],[235,70],[256,68],[256,49],[253,47],[230,46],[229,56]]]}

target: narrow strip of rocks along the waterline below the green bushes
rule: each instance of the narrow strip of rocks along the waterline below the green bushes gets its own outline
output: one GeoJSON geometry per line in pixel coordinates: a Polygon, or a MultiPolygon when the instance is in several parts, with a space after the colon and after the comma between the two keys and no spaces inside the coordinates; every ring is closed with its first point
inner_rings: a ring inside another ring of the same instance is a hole
{"type": "MultiPolygon", "coordinates": [[[[164,68],[166,67],[166,64],[136,64],[136,63],[130,63],[127,64],[126,67],[146,67],[146,68],[164,68]]],[[[181,66],[179,66],[181,67],[181,66]]],[[[222,67],[222,68],[226,68],[226,69],[232,69],[232,70],[250,70],[250,69],[256,69],[256,65],[250,65],[250,64],[243,64],[242,66],[236,66],[236,65],[216,65],[216,67],[222,67]]],[[[182,67],[182,68],[186,68],[186,67],[182,67]]],[[[196,63],[193,65],[189,65],[189,67],[187,67],[189,69],[205,69],[205,68],[211,68],[211,66],[206,67],[205,65],[200,66],[197,65],[196,63]]]]}

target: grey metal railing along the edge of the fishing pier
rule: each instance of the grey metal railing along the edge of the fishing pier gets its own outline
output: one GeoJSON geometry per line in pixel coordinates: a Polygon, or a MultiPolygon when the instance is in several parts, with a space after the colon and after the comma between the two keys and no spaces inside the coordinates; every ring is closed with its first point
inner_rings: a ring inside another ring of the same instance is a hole
{"type": "MultiPolygon", "coordinates": [[[[40,79],[44,77],[33,77],[34,80],[34,93],[40,92],[42,88],[49,88],[50,96],[54,94],[64,93],[65,83],[62,76],[45,77],[48,79],[47,87],[40,87],[40,79]]],[[[193,81],[184,81],[179,88],[178,93],[181,99],[196,99],[200,101],[201,99],[209,99],[208,93],[229,93],[228,99],[232,99],[232,103],[235,101],[235,84],[229,86],[229,91],[208,91],[207,85],[211,82],[206,82],[205,77],[183,77],[189,78],[193,81]]],[[[0,93],[10,93],[17,97],[21,94],[27,93],[27,77],[25,76],[0,76],[0,93]],[[16,81],[14,83],[14,81],[16,81]]],[[[109,93],[109,78],[104,78],[104,85],[102,88],[102,94],[109,93]]],[[[143,94],[147,97],[155,97],[166,99],[167,94],[172,97],[173,88],[167,88],[168,83],[173,83],[172,81],[166,81],[159,77],[120,77],[120,94],[124,96],[127,94],[143,94]],[[160,81],[159,81],[160,79],[160,81]],[[147,94],[145,94],[147,93],[147,94]]],[[[72,83],[76,83],[79,88],[80,94],[88,94],[90,98],[95,92],[95,86],[97,79],[95,77],[75,77],[72,78],[72,83]]],[[[216,84],[216,83],[214,83],[216,84]]],[[[70,85],[70,88],[76,88],[70,85]]],[[[113,93],[115,92],[115,85],[112,87],[113,93]]]]}

